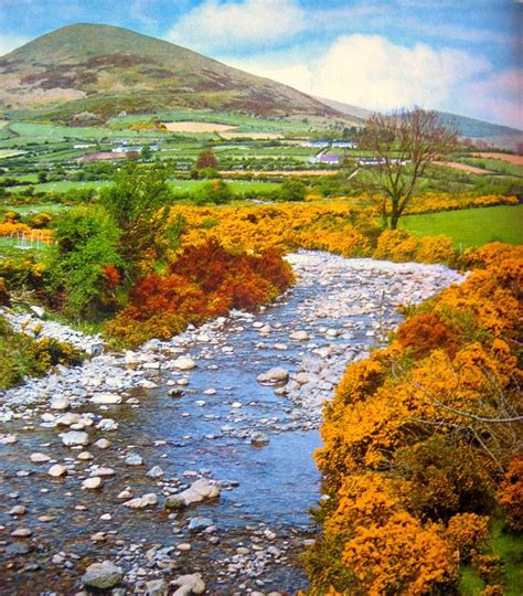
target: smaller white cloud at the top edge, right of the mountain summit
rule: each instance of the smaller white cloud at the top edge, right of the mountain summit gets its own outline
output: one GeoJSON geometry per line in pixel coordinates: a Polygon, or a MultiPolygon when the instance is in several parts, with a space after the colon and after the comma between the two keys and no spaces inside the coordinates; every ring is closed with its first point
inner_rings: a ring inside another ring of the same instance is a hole
{"type": "Polygon", "coordinates": [[[293,0],[206,0],[184,14],[167,39],[205,52],[233,52],[286,43],[306,26],[306,13],[293,0]]]}

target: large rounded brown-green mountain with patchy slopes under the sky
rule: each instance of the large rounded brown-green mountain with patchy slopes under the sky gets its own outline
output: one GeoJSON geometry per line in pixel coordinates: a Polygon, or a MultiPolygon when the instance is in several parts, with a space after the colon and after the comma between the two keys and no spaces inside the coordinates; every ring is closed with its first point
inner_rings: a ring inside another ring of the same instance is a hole
{"type": "Polygon", "coordinates": [[[287,85],[118,26],[73,24],[0,58],[0,109],[8,114],[107,118],[180,107],[341,116],[287,85]]]}

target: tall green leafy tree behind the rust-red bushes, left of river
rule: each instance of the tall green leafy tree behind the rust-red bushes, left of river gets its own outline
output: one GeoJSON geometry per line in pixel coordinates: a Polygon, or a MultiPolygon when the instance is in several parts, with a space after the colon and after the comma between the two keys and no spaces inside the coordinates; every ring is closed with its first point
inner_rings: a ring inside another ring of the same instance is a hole
{"type": "Polygon", "coordinates": [[[163,231],[172,201],[164,168],[127,163],[115,183],[100,193],[100,203],[121,231],[119,253],[127,277],[138,273],[140,260],[153,262],[164,244],[163,231]]]}

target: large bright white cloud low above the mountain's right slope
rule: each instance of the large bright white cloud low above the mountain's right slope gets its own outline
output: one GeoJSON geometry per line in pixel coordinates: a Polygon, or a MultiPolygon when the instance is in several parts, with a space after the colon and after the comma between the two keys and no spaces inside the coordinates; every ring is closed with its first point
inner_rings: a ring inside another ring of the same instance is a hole
{"type": "Polygon", "coordinates": [[[460,82],[491,68],[487,60],[459,50],[405,47],[380,35],[359,34],[340,36],[323,54],[305,61],[293,52],[236,60],[234,65],[370,109],[414,104],[440,108],[460,82]]]}

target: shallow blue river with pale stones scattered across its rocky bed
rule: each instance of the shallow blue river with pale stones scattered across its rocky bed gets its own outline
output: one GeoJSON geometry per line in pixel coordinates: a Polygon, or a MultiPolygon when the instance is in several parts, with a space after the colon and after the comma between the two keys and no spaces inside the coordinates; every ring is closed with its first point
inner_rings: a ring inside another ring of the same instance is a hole
{"type": "MultiPolygon", "coordinates": [[[[0,394],[0,593],[293,594],[314,528],[321,404],[440,266],[290,255],[297,285],[168,342],[87,348],[0,394]]],[[[13,326],[38,318],[10,313],[13,326]]]]}

